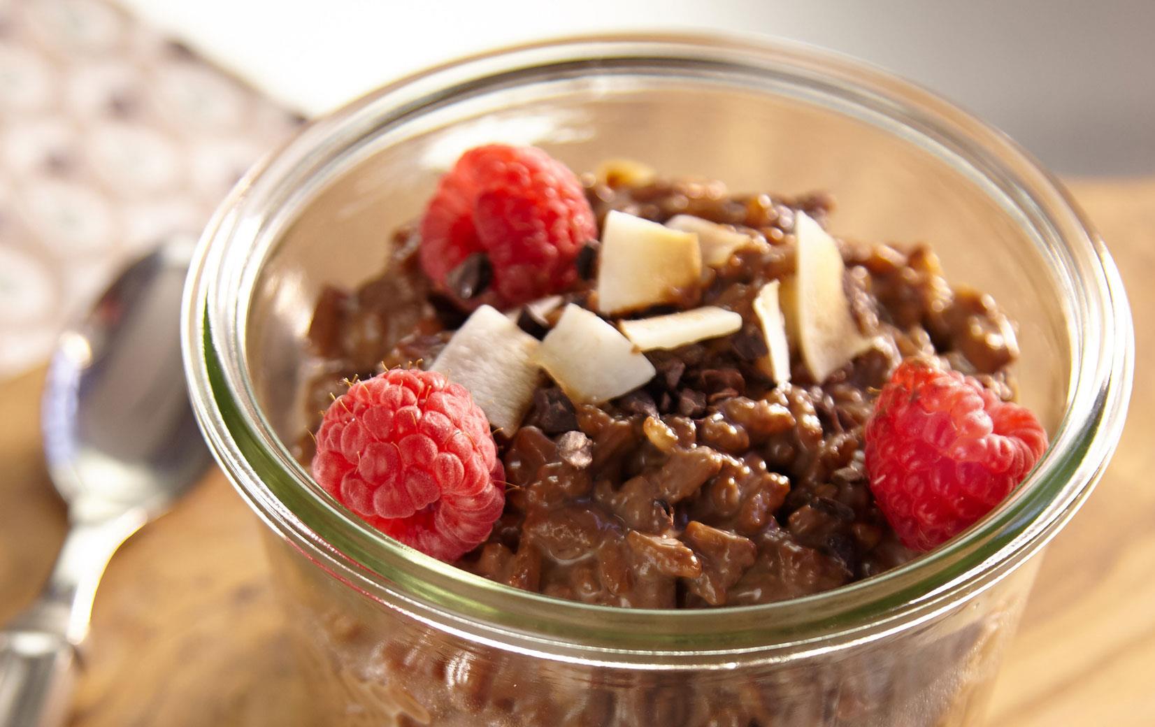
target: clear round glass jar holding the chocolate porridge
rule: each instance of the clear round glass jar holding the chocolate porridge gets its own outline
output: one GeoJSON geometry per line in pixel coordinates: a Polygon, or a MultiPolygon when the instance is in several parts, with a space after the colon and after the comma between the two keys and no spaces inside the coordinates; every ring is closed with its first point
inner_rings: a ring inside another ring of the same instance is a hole
{"type": "Polygon", "coordinates": [[[1043,546],[1116,445],[1133,333],[1117,271],[1059,185],[999,133],[847,59],[701,36],[581,38],[482,55],[306,127],[237,186],[191,272],[189,388],[263,520],[321,724],[957,725],[981,718],[1043,546]],[[572,168],[608,157],[731,188],[832,192],[835,233],[929,241],[1020,324],[1021,399],[1051,448],[933,553],[784,602],[641,610],[517,591],[381,535],[285,442],[316,366],[326,283],[379,272],[389,232],[485,142],[572,168]]]}

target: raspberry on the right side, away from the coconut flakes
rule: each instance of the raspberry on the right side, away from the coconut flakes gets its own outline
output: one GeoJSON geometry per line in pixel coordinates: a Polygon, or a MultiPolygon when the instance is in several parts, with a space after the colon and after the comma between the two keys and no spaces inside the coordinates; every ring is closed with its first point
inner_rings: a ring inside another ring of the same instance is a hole
{"type": "Polygon", "coordinates": [[[917,550],[990,512],[1046,449],[1030,411],[919,359],[903,361],[882,388],[865,435],[874,500],[917,550]]]}

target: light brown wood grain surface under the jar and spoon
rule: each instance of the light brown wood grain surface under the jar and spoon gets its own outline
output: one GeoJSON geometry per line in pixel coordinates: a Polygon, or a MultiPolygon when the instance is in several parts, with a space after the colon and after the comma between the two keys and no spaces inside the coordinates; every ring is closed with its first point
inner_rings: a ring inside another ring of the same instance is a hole
{"type": "MultiPolygon", "coordinates": [[[[1074,181],[1135,314],[1131,415],[1103,482],[1046,553],[990,725],[1155,724],[1155,179],[1074,181]]],[[[174,373],[177,375],[177,373],[174,373]]],[[[27,604],[64,537],[42,463],[42,373],[0,382],[0,621],[27,604]]],[[[74,727],[301,726],[293,669],[252,517],[219,472],[109,567],[74,727]]]]}

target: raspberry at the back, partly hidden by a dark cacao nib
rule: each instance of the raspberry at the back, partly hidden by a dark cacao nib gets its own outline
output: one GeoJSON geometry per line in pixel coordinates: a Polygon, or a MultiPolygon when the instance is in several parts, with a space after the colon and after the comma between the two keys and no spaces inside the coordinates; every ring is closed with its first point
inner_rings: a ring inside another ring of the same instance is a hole
{"type": "Polygon", "coordinates": [[[422,219],[422,268],[447,277],[475,253],[489,256],[493,291],[515,306],[566,290],[594,211],[569,168],[532,147],[490,144],[463,153],[438,183],[422,219]]]}

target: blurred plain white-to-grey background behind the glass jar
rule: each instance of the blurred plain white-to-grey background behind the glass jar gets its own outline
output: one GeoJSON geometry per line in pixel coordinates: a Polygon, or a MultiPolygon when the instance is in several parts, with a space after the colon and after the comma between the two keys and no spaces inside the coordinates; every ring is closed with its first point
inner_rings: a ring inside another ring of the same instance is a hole
{"type": "Polygon", "coordinates": [[[721,29],[857,55],[1064,174],[1155,171],[1155,0],[120,0],[306,114],[479,50],[597,30],[721,29]]]}

